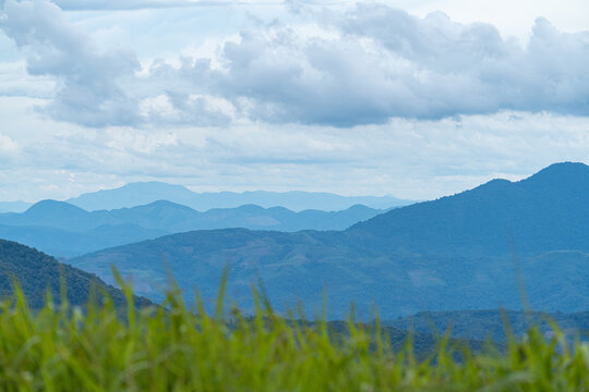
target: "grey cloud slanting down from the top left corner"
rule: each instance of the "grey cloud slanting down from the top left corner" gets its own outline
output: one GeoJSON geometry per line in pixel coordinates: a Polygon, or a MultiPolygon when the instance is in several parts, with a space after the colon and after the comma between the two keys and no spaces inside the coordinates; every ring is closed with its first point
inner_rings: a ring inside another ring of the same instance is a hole
{"type": "Polygon", "coordinates": [[[55,119],[104,126],[136,121],[133,100],[118,79],[140,68],[132,52],[99,52],[89,37],[71,27],[47,1],[7,1],[0,28],[27,53],[31,75],[57,77],[60,87],[43,111],[55,119]]]}

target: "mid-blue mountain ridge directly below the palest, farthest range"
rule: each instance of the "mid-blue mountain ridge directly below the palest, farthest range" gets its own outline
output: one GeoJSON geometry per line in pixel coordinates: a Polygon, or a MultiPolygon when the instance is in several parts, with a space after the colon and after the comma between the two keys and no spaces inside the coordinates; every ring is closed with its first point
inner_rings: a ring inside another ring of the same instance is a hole
{"type": "Polygon", "coordinates": [[[199,212],[170,201],[88,212],[56,200],[43,200],[23,213],[0,213],[0,237],[69,258],[117,245],[191,230],[247,228],[280,231],[341,230],[381,210],[352,206],[344,211],[241,206],[199,212]]]}

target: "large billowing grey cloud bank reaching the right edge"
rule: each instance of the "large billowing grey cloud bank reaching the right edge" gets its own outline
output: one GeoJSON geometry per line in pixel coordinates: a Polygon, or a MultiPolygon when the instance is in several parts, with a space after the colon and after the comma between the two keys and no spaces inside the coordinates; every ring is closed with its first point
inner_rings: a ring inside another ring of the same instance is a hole
{"type": "Polygon", "coordinates": [[[347,127],[502,110],[589,112],[587,32],[562,33],[538,19],[522,46],[489,24],[374,4],[332,23],[336,37],[279,24],[242,32],[223,47],[224,71],[200,62],[187,81],[271,123],[347,127]]]}

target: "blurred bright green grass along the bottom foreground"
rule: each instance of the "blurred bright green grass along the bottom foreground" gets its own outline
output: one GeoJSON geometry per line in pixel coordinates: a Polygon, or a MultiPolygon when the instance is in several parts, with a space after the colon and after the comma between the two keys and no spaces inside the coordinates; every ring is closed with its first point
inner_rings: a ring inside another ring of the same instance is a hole
{"type": "Polygon", "coordinates": [[[0,305],[0,390],[589,390],[589,346],[568,347],[558,331],[546,341],[531,330],[502,353],[462,348],[459,360],[442,338],[417,360],[410,342],[395,353],[381,333],[353,322],[335,334],[325,322],[287,322],[265,307],[227,322],[220,305],[215,315],[192,313],[179,298],[122,315],[108,301],[33,313],[16,290],[0,305]]]}

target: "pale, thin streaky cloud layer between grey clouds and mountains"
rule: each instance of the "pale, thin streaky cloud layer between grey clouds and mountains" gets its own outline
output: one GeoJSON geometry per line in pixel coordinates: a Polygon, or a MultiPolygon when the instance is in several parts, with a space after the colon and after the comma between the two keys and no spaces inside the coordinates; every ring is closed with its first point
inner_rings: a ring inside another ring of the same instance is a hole
{"type": "Polygon", "coordinates": [[[349,130],[260,123],[223,132],[88,130],[27,117],[32,102],[11,102],[13,97],[0,98],[0,118],[13,117],[2,134],[19,148],[10,159],[0,154],[0,199],[68,198],[146,180],[195,191],[304,189],[423,199],[493,177],[519,179],[556,161],[589,163],[589,119],[549,113],[395,119],[349,130]],[[41,185],[57,187],[44,192],[41,185]]]}

